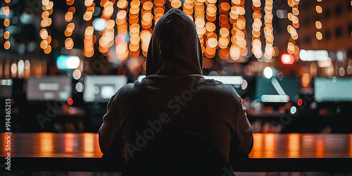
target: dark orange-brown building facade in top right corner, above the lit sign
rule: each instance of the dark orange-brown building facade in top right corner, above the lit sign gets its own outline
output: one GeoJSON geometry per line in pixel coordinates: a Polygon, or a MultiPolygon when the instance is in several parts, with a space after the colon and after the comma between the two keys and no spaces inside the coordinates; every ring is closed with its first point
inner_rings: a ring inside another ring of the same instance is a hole
{"type": "Polygon", "coordinates": [[[351,1],[301,1],[299,9],[303,17],[298,28],[301,49],[325,49],[334,56],[341,51],[342,59],[336,57],[340,61],[352,58],[351,1]]]}

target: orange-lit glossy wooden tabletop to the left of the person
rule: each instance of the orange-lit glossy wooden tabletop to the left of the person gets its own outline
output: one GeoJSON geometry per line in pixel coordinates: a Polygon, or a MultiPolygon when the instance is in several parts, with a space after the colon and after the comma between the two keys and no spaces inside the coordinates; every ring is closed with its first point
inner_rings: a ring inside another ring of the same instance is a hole
{"type": "MultiPolygon", "coordinates": [[[[0,146],[7,134],[1,133],[0,146]]],[[[0,156],[5,156],[1,147],[0,156]]],[[[100,158],[98,134],[94,133],[18,133],[11,134],[11,157],[100,158]]]]}

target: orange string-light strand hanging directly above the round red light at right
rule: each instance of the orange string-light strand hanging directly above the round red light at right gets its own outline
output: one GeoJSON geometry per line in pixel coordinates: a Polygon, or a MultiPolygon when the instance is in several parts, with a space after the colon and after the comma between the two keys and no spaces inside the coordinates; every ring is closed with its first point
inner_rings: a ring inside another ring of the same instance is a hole
{"type": "Polygon", "coordinates": [[[287,32],[289,32],[289,34],[291,34],[291,38],[289,39],[289,42],[287,44],[287,52],[289,54],[293,54],[294,58],[298,59],[298,57],[299,57],[299,47],[296,45],[296,39],[298,39],[298,32],[297,32],[296,29],[299,27],[299,20],[298,20],[298,15],[299,15],[298,4],[299,4],[299,0],[288,0],[287,3],[292,8],[292,13],[289,13],[287,15],[289,20],[292,22],[292,25],[287,25],[287,32]]]}

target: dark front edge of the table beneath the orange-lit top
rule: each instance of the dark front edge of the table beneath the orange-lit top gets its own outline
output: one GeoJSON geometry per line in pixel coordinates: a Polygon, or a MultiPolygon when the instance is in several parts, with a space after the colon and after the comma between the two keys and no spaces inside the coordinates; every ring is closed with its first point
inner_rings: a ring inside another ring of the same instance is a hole
{"type": "MultiPolygon", "coordinates": [[[[122,172],[124,166],[124,159],[11,158],[11,170],[17,171],[122,172]]],[[[352,158],[249,158],[235,159],[232,166],[236,172],[352,172],[352,158]]]]}

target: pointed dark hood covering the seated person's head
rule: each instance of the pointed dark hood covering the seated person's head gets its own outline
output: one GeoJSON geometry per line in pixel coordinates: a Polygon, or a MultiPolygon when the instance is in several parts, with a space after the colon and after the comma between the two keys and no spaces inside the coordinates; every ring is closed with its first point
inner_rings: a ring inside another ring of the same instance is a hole
{"type": "Polygon", "coordinates": [[[201,75],[203,55],[193,21],[171,8],[154,27],[148,54],[148,75],[201,75]]]}

